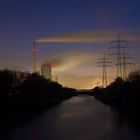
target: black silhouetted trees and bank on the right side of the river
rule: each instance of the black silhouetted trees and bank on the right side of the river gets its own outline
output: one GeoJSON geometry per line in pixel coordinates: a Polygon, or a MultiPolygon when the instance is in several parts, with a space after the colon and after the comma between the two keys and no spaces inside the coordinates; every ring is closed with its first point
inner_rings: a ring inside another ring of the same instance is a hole
{"type": "Polygon", "coordinates": [[[96,87],[93,91],[96,99],[140,123],[140,70],[131,72],[127,80],[118,77],[106,88],[96,87]]]}

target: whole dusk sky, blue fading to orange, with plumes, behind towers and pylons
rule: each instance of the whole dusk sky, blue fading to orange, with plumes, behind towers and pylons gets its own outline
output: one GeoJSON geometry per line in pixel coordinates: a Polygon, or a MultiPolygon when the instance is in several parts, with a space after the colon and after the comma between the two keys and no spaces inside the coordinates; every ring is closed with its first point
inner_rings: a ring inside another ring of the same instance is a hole
{"type": "MultiPolygon", "coordinates": [[[[97,61],[118,33],[129,41],[136,63],[128,71],[139,69],[139,5],[138,0],[1,0],[0,69],[32,70],[36,41],[38,69],[53,63],[53,75],[64,86],[92,88],[101,84],[97,61]]],[[[114,66],[109,82],[115,76],[114,66]]]]}

